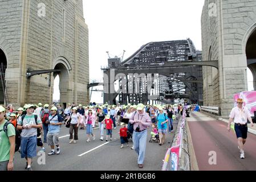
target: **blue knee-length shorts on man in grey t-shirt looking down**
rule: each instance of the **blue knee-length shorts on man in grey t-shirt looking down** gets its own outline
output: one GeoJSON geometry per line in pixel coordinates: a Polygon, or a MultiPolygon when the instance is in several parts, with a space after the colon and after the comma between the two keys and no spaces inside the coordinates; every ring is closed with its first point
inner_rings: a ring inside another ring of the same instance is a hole
{"type": "Polygon", "coordinates": [[[21,137],[21,158],[36,157],[36,135],[33,137],[21,137]]]}

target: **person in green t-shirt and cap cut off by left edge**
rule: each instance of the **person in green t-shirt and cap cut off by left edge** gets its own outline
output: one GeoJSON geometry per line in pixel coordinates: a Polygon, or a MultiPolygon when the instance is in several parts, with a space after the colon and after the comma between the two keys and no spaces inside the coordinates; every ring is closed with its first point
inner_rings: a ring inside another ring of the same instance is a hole
{"type": "Polygon", "coordinates": [[[15,128],[7,125],[7,131],[3,130],[6,125],[5,108],[0,106],[0,171],[13,171],[14,151],[15,151],[15,128]]]}

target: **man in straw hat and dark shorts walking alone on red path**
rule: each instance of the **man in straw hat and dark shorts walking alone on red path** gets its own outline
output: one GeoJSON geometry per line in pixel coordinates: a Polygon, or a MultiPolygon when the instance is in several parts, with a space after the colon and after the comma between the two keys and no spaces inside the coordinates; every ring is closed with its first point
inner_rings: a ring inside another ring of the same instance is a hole
{"type": "Polygon", "coordinates": [[[251,126],[253,126],[250,111],[246,107],[243,107],[243,100],[238,98],[237,107],[234,107],[229,115],[229,124],[227,126],[227,130],[230,131],[230,123],[234,120],[235,134],[237,135],[238,139],[238,149],[241,153],[241,159],[245,159],[245,151],[243,151],[243,146],[247,138],[247,119],[250,121],[251,126]]]}

